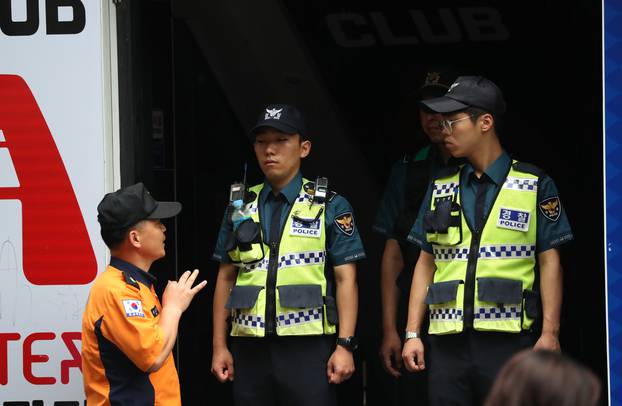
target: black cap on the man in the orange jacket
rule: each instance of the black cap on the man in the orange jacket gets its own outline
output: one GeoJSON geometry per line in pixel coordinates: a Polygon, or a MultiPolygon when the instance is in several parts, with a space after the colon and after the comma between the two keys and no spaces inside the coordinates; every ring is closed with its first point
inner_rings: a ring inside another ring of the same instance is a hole
{"type": "Polygon", "coordinates": [[[97,205],[102,230],[123,230],[146,219],[165,219],[181,211],[179,202],[156,201],[145,185],[137,183],[108,193],[97,205]]]}

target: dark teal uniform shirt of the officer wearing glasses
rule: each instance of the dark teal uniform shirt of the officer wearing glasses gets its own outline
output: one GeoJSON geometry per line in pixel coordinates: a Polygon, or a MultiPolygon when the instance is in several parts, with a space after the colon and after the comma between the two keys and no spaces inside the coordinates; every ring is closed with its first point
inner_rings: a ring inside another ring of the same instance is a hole
{"type": "MultiPolygon", "coordinates": [[[[475,170],[471,164],[467,163],[460,173],[460,195],[463,203],[462,210],[467,223],[473,227],[475,224],[475,197],[479,182],[484,182],[486,187],[484,197],[484,218],[488,217],[494,204],[494,199],[503,186],[505,177],[509,171],[512,159],[503,153],[492,163],[482,174],[481,178],[476,179],[475,170]]],[[[550,198],[558,197],[557,187],[548,175],[542,175],[538,181],[538,204],[550,198]]],[[[413,225],[408,241],[416,243],[426,252],[432,253],[432,245],[426,240],[426,233],[423,227],[423,216],[430,209],[432,198],[432,184],[428,186],[426,197],[419,210],[417,220],[413,225]]],[[[537,211],[537,230],[536,230],[536,252],[540,253],[550,248],[559,247],[573,239],[572,230],[568,217],[566,216],[560,200],[561,213],[556,220],[546,217],[539,208],[537,211]]]]}

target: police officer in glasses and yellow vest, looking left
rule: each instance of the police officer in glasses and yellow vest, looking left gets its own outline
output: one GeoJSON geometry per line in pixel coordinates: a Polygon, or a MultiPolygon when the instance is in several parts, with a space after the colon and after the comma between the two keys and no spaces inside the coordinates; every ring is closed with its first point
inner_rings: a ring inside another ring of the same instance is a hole
{"type": "Polygon", "coordinates": [[[445,146],[467,163],[437,175],[408,237],[422,252],[402,358],[412,371],[426,368],[428,306],[430,404],[480,405],[503,363],[533,345],[540,303],[534,348],[559,351],[558,248],[572,231],[551,178],[502,149],[505,101],[494,83],[461,76],[422,103],[443,114],[445,146]]]}

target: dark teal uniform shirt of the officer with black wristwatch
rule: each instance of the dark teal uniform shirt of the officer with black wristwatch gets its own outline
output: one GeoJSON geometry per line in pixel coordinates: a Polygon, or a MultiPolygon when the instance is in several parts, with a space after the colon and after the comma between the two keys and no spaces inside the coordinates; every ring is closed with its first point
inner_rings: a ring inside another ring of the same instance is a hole
{"type": "MultiPolygon", "coordinates": [[[[290,209],[294,205],[298,194],[302,188],[302,175],[300,172],[292,179],[292,181],[281,190],[281,194],[285,198],[285,204],[281,209],[281,221],[280,229],[283,229],[287,215],[290,209]]],[[[264,181],[264,187],[259,193],[259,212],[261,213],[261,227],[266,241],[270,241],[270,224],[272,221],[273,205],[276,202],[277,197],[272,193],[272,186],[268,181],[264,181]]],[[[226,216],[225,210],[225,216],[226,216]]],[[[343,265],[348,262],[355,262],[365,258],[365,250],[363,249],[363,243],[361,236],[354,220],[354,213],[352,206],[348,201],[340,196],[336,195],[331,201],[326,202],[326,252],[328,258],[333,266],[343,265]],[[352,214],[352,224],[354,225],[354,232],[352,235],[347,235],[335,224],[335,218],[342,214],[352,214]]],[[[230,263],[229,256],[225,252],[224,246],[227,241],[227,236],[231,230],[231,224],[223,216],[222,224],[220,225],[220,231],[218,233],[218,240],[216,242],[216,248],[212,258],[218,262],[230,263]]]]}

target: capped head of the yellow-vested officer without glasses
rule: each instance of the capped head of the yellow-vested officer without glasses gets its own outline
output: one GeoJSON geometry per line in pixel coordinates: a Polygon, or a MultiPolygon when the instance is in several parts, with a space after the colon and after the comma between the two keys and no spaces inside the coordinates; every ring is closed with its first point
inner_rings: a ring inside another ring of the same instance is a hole
{"type": "Polygon", "coordinates": [[[296,176],[302,159],[311,152],[302,113],[286,104],[271,104],[250,131],[261,171],[274,189],[281,189],[296,176]]]}

